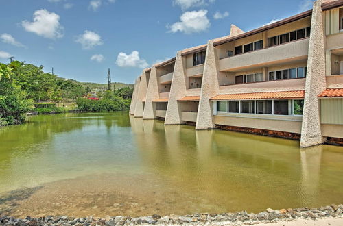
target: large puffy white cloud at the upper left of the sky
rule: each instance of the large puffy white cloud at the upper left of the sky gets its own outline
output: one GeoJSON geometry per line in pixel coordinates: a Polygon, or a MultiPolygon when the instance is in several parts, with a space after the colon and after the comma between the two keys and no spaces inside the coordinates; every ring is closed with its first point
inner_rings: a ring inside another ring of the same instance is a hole
{"type": "Polygon", "coordinates": [[[44,38],[62,38],[63,27],[60,25],[60,16],[45,9],[34,12],[34,21],[22,21],[21,25],[27,32],[33,32],[44,38]]]}

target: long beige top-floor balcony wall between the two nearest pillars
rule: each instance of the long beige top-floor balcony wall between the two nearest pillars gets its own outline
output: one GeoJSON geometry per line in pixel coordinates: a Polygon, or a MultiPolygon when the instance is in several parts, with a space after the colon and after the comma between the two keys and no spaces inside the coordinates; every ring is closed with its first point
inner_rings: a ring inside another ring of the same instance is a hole
{"type": "Polygon", "coordinates": [[[309,38],[283,45],[259,49],[219,60],[220,71],[238,71],[246,68],[272,66],[307,58],[309,38]]]}

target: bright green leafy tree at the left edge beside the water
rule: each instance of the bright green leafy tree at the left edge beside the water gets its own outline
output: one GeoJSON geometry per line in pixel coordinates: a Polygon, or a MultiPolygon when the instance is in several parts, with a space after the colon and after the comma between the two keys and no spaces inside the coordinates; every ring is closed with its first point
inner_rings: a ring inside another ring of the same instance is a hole
{"type": "Polygon", "coordinates": [[[12,71],[11,65],[0,64],[0,126],[22,123],[32,109],[32,99],[12,78],[12,71]]]}

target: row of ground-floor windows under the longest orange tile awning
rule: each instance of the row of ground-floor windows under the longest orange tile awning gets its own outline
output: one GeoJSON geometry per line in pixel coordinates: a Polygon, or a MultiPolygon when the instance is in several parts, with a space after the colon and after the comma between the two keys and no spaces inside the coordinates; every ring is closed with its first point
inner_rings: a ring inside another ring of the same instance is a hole
{"type": "Polygon", "coordinates": [[[303,115],[303,99],[217,101],[218,112],[271,115],[303,115]]]}

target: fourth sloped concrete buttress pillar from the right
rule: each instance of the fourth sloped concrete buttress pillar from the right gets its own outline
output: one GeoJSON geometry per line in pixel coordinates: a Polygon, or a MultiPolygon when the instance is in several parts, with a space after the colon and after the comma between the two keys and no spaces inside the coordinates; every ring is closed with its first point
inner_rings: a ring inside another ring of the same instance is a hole
{"type": "Polygon", "coordinates": [[[158,99],[158,81],[155,66],[152,66],[150,72],[149,85],[147,86],[147,96],[145,100],[145,107],[143,112],[143,119],[154,119],[155,118],[155,109],[154,99],[158,99]]]}

